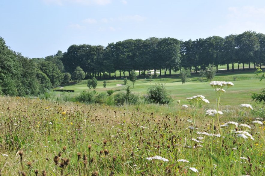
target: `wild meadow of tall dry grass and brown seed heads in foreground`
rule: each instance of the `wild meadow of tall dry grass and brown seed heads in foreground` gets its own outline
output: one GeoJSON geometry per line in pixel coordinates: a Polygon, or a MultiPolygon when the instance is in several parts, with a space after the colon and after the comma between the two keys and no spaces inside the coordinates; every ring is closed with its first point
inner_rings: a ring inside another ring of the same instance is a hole
{"type": "MultiPolygon", "coordinates": [[[[216,107],[215,101],[202,103],[196,111],[176,103],[115,107],[1,97],[1,174],[36,175],[38,170],[37,175],[45,175],[45,170],[47,175],[264,175],[264,126],[252,123],[251,112],[222,103],[225,96],[235,95],[233,91],[244,90],[243,83],[242,87],[240,81],[234,83],[222,95],[220,123],[250,125],[247,131],[254,141],[237,137],[235,131],[241,127],[220,131],[216,120],[212,123],[214,118],[205,116],[206,109],[216,107]],[[196,132],[222,132],[224,138],[196,132]],[[203,143],[191,140],[199,136],[203,143]],[[156,155],[168,162],[146,159],[156,155]]],[[[206,98],[215,99],[208,83],[193,84],[197,89],[185,90],[190,91],[185,97],[208,92],[206,98]]]]}

